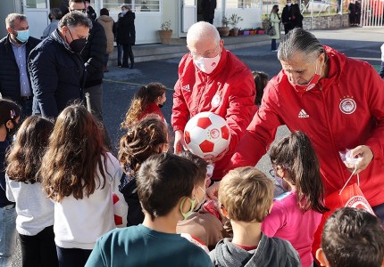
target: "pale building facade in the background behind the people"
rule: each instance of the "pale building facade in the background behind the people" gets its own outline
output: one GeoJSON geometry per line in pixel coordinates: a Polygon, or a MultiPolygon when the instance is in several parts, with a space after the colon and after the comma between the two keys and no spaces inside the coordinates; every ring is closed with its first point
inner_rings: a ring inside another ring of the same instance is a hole
{"type": "MultiPolygon", "coordinates": [[[[60,7],[66,0],[7,0],[0,2],[0,20],[7,13],[25,13],[29,20],[29,33],[40,37],[49,23],[50,8],[60,7]]],[[[157,30],[164,21],[171,20],[172,38],[187,36],[190,25],[203,20],[201,0],[91,0],[91,5],[99,14],[107,8],[113,20],[117,20],[121,4],[129,4],[136,13],[136,44],[156,44],[160,42],[157,30]]],[[[238,28],[256,28],[262,23],[262,0],[217,0],[213,25],[221,26],[223,16],[237,13],[243,18],[238,28]]],[[[2,28],[2,36],[6,30],[2,28]]]]}

